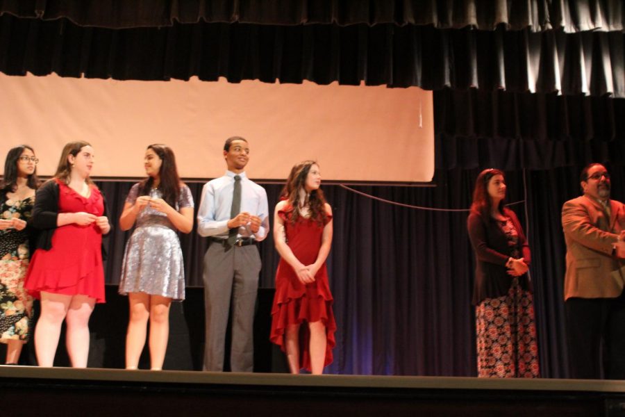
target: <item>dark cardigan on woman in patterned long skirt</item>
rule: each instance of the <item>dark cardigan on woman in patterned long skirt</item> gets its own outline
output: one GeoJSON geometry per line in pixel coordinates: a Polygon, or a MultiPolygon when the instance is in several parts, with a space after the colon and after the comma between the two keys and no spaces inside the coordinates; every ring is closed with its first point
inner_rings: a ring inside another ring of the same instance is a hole
{"type": "MultiPolygon", "coordinates": [[[[525,263],[529,265],[531,253],[519,219],[508,208],[504,209],[504,215],[512,220],[512,224],[517,229],[519,234],[518,247],[525,263]]],[[[476,256],[472,303],[478,305],[486,298],[503,297],[503,295],[508,294],[510,284],[512,284],[512,276],[508,275],[508,268],[506,268],[506,263],[510,258],[510,247],[506,234],[501,231],[497,220],[490,216],[483,219],[481,215],[476,213],[469,214],[467,229],[476,256]]],[[[519,277],[519,284],[524,290],[532,290],[527,274],[519,277]]]]}

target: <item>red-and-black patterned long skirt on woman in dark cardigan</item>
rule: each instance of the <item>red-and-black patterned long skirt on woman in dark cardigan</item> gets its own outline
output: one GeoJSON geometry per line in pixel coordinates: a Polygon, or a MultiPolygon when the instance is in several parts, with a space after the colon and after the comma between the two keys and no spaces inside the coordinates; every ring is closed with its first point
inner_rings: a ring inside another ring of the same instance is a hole
{"type": "Polygon", "coordinates": [[[540,377],[532,295],[517,278],[508,295],[476,306],[476,331],[478,377],[540,377]]]}

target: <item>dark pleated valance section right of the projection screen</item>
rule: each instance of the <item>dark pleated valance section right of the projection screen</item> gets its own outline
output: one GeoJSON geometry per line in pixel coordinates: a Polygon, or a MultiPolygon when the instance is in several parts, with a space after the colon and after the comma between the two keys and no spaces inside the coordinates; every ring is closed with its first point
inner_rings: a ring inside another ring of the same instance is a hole
{"type": "Polygon", "coordinates": [[[625,99],[441,90],[434,106],[439,169],[624,165],[625,99]]]}

